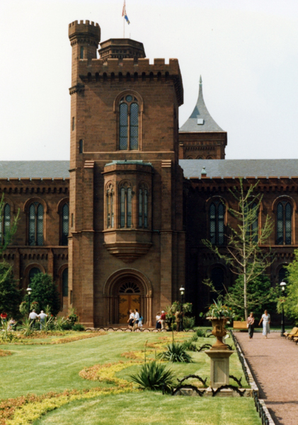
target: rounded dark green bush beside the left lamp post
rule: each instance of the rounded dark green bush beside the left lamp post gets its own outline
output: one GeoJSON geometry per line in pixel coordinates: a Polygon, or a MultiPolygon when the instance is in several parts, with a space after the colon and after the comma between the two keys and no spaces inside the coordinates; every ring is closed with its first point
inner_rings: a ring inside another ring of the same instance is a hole
{"type": "MultiPolygon", "coordinates": [[[[37,301],[40,310],[46,310],[49,305],[51,313],[55,316],[60,310],[60,296],[52,276],[37,273],[31,280],[30,287],[32,289],[30,301],[37,301]]],[[[25,300],[28,302],[28,295],[25,295],[25,300]]]]}

